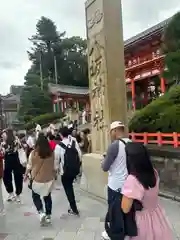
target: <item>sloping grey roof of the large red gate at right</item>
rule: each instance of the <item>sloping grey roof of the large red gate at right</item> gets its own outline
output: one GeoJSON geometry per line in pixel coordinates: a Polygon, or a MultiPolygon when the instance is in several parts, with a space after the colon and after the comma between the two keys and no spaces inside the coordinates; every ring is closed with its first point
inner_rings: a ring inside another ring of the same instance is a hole
{"type": "Polygon", "coordinates": [[[156,24],[155,26],[148,28],[145,31],[137,34],[136,36],[125,40],[124,41],[125,49],[138,43],[139,41],[146,39],[148,36],[154,35],[156,33],[161,33],[163,31],[163,29],[165,28],[165,26],[169,23],[170,20],[171,20],[171,18],[168,18],[168,19],[164,20],[163,22],[160,22],[160,23],[156,24]]]}

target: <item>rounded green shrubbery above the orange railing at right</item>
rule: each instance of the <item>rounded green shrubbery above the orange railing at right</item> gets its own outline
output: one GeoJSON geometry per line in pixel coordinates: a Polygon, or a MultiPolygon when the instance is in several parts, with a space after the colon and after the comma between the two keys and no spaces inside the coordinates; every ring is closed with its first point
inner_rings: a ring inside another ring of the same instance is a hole
{"type": "Polygon", "coordinates": [[[180,86],[135,113],[130,132],[180,132],[180,86]]]}

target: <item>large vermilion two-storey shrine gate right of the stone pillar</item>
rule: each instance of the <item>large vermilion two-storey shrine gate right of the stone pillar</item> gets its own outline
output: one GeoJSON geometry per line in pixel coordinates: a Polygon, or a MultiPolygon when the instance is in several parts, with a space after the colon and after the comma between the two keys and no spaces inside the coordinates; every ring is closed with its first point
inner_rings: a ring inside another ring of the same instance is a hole
{"type": "Polygon", "coordinates": [[[166,91],[161,75],[164,71],[161,44],[168,22],[169,19],[124,42],[129,110],[146,106],[166,91]]]}

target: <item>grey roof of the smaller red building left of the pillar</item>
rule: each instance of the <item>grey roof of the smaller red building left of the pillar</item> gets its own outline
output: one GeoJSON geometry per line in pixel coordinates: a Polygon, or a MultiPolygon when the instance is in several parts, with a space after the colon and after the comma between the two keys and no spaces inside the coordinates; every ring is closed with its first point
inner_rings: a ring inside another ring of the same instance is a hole
{"type": "Polygon", "coordinates": [[[86,87],[78,87],[78,86],[69,86],[69,85],[57,85],[50,83],[48,85],[49,91],[51,94],[57,93],[67,93],[67,94],[75,94],[75,95],[88,95],[89,89],[86,87]]]}

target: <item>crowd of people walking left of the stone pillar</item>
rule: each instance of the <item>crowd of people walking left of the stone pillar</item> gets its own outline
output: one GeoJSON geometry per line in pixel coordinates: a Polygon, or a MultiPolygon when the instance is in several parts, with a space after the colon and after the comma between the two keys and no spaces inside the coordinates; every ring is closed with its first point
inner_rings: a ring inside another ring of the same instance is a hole
{"type": "Polygon", "coordinates": [[[82,154],[90,149],[89,134],[89,130],[79,133],[71,125],[60,129],[50,125],[46,133],[37,125],[27,135],[4,130],[0,144],[0,213],[4,212],[2,182],[8,193],[7,201],[21,203],[23,182],[28,181],[40,223],[50,223],[51,191],[61,178],[69,202],[68,213],[79,215],[73,184],[82,175],[82,154]]]}

